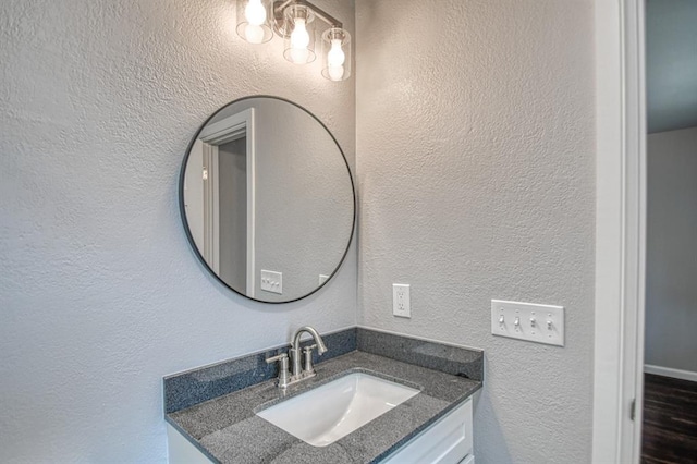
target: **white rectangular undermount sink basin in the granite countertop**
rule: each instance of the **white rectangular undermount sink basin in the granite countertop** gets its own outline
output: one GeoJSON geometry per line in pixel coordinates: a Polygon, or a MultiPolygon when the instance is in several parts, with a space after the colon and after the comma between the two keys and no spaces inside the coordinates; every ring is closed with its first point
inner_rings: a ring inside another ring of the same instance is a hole
{"type": "Polygon", "coordinates": [[[411,387],[354,373],[257,415],[314,447],[326,447],[418,393],[411,387]]]}

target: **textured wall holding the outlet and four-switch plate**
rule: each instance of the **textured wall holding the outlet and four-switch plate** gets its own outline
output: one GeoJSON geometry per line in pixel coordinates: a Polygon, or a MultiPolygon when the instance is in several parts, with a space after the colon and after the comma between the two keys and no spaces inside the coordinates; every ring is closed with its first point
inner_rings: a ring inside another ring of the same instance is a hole
{"type": "Polygon", "coordinates": [[[486,351],[477,462],[590,462],[592,2],[356,15],[359,323],[486,351]],[[393,282],[412,319],[391,315],[393,282]],[[492,337],[491,298],[565,306],[566,346],[492,337]]]}

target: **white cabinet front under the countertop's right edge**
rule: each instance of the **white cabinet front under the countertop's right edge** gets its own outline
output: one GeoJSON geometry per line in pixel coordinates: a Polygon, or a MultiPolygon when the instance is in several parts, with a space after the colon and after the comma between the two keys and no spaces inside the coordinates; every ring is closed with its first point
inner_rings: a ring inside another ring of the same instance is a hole
{"type": "Polygon", "coordinates": [[[475,464],[472,398],[390,454],[386,464],[475,464]]]}

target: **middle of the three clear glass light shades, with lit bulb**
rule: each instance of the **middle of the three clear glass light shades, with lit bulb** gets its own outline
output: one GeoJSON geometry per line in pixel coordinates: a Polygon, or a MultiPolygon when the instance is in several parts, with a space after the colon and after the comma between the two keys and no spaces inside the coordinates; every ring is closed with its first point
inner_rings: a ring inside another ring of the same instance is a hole
{"type": "Polygon", "coordinates": [[[285,44],[283,57],[295,64],[315,61],[315,14],[303,4],[292,4],[284,11],[285,44]]]}

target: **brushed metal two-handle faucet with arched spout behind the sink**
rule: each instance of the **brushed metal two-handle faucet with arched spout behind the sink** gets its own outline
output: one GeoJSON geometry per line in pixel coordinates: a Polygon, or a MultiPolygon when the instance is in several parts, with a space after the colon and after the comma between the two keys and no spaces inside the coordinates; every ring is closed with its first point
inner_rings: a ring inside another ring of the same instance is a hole
{"type": "Polygon", "coordinates": [[[315,368],[313,367],[313,350],[317,349],[317,353],[321,356],[322,353],[327,352],[327,345],[325,345],[325,341],[317,333],[317,330],[311,327],[302,327],[295,331],[293,334],[293,341],[291,343],[291,349],[289,353],[281,353],[277,356],[269,357],[266,359],[268,364],[279,363],[279,378],[278,386],[279,388],[284,389],[285,387],[299,382],[301,380],[309,379],[310,377],[315,377],[315,368]],[[304,332],[313,335],[315,343],[301,347],[301,337],[304,332]],[[302,350],[302,354],[301,354],[302,350]],[[289,354],[291,357],[291,368],[289,371],[289,354]],[[303,363],[302,356],[305,356],[305,363],[303,363]]]}

